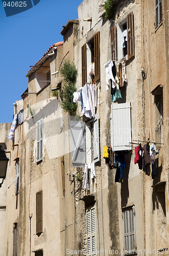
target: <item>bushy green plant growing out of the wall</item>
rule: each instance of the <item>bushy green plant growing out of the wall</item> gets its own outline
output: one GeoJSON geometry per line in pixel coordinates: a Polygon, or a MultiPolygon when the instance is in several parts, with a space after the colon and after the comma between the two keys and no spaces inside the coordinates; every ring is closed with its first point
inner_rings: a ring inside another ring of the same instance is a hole
{"type": "Polygon", "coordinates": [[[74,116],[77,110],[77,103],[73,103],[73,93],[76,92],[75,83],[77,79],[75,63],[65,60],[60,72],[62,75],[61,105],[64,111],[74,116]]]}

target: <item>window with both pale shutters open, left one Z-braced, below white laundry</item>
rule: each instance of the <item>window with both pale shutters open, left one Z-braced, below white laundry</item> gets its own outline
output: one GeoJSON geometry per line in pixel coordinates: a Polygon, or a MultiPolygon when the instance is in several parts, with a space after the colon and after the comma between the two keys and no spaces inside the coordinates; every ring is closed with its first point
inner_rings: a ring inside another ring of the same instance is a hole
{"type": "Polygon", "coordinates": [[[90,122],[70,122],[71,160],[73,167],[100,161],[98,114],[90,122]]]}

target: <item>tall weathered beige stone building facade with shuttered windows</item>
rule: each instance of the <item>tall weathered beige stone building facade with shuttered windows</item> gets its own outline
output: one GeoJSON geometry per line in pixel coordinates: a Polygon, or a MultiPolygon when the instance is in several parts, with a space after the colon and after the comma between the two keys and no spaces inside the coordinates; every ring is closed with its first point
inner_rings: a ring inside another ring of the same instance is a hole
{"type": "Polygon", "coordinates": [[[115,1],[106,20],[104,2],[84,0],[63,42],[26,74],[14,113],[24,118],[7,147],[7,183],[15,182],[3,255],[168,254],[168,9],[165,0],[115,1]],[[76,117],[61,108],[65,59],[78,70],[77,90],[96,86],[92,117],[80,102],[76,117]],[[156,155],[143,170],[135,147],[147,142],[156,155]]]}

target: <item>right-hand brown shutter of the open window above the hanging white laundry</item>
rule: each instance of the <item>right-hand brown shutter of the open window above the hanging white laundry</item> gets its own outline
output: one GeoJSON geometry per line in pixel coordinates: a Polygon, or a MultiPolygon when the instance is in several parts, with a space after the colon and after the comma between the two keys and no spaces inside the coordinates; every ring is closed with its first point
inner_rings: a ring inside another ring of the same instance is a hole
{"type": "Polygon", "coordinates": [[[95,81],[100,79],[100,32],[94,35],[95,81]]]}

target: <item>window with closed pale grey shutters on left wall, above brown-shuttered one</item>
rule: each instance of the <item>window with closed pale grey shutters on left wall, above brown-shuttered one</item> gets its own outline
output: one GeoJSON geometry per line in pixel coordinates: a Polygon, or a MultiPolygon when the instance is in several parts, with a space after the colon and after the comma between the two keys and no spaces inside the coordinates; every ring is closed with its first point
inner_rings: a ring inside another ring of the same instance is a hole
{"type": "Polygon", "coordinates": [[[43,119],[37,122],[37,162],[42,160],[43,151],[43,119]]]}

